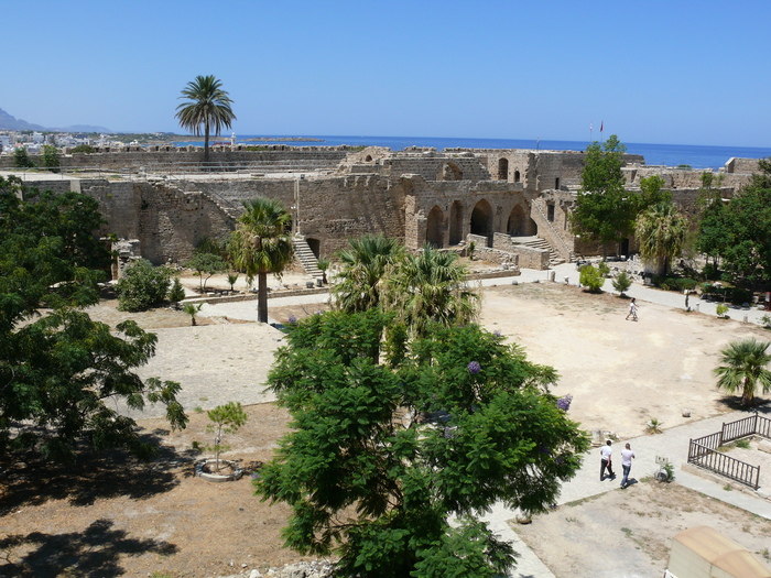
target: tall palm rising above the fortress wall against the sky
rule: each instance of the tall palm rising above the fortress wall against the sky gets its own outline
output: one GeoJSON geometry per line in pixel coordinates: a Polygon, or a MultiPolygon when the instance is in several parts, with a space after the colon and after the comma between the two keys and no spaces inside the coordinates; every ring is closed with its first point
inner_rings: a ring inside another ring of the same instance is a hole
{"type": "Polygon", "coordinates": [[[187,83],[180,97],[188,100],[176,107],[175,117],[180,119],[183,129],[199,137],[202,126],[204,128],[204,163],[209,162],[210,130],[214,129],[218,135],[236,120],[236,114],[230,109],[232,100],[221,86],[222,83],[214,75],[196,76],[195,80],[187,83]]]}

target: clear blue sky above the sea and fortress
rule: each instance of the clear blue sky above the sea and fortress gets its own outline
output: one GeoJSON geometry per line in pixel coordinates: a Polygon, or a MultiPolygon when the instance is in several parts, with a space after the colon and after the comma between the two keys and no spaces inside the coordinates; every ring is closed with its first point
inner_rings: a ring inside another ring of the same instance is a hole
{"type": "Polygon", "coordinates": [[[177,131],[218,77],[237,134],[771,145],[771,2],[6,2],[0,108],[177,131]]]}

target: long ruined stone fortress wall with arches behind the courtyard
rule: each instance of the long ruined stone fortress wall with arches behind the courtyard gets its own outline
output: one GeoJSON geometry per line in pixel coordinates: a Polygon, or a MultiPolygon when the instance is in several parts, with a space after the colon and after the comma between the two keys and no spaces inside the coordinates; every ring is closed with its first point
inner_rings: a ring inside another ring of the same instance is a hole
{"type": "MultiPolygon", "coordinates": [[[[83,175],[36,184],[97,198],[108,221],[104,232],[137,239],[142,257],[156,264],[184,262],[202,239],[227,237],[242,203],[254,196],[287,207],[293,230],[316,257],[378,232],[411,250],[430,242],[463,251],[474,240],[492,260],[535,269],[601,252],[569,230],[582,152],[215,146],[202,173],[203,153],[191,149],[196,148],[65,155],[64,174],[84,167],[83,175]],[[86,176],[85,168],[95,166],[116,174],[86,176]]],[[[658,174],[680,208],[694,211],[702,171],[648,166],[639,155],[626,155],[625,162],[630,189],[658,174]]],[[[724,197],[749,181],[757,163],[732,159],[720,170],[724,197]]]]}

